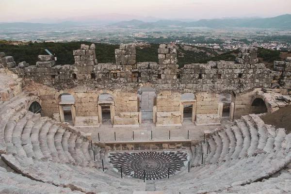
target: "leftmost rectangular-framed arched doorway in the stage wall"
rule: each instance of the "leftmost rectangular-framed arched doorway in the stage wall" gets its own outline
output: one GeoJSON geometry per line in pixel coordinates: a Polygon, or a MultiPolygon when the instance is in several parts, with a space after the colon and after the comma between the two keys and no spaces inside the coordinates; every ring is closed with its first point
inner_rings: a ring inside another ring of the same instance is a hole
{"type": "Polygon", "coordinates": [[[58,100],[61,122],[73,125],[76,117],[75,98],[69,93],[63,93],[58,100]]]}

